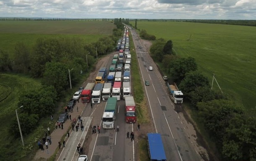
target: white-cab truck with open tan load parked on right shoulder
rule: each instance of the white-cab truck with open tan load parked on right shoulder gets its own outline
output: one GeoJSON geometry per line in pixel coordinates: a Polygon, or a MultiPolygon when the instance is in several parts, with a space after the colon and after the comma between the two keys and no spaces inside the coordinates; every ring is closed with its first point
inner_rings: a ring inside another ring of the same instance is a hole
{"type": "Polygon", "coordinates": [[[183,103],[183,93],[181,91],[179,91],[176,84],[174,83],[174,85],[172,85],[167,82],[167,87],[169,89],[169,94],[170,94],[171,100],[175,104],[182,104],[183,103]]]}

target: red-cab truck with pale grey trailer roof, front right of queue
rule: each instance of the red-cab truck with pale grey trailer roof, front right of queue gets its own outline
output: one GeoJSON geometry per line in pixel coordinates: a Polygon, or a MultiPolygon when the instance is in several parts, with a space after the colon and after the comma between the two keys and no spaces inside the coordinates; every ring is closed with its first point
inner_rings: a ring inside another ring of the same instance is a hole
{"type": "Polygon", "coordinates": [[[125,97],[125,120],[126,123],[135,123],[136,122],[136,105],[133,99],[133,96],[125,97]]]}

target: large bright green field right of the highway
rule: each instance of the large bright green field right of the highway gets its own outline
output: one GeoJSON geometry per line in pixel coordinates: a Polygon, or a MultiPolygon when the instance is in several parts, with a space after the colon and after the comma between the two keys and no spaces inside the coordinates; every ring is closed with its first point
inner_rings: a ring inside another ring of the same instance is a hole
{"type": "MultiPolygon", "coordinates": [[[[210,84],[215,74],[224,93],[247,110],[256,107],[255,27],[146,21],[138,21],[137,27],[172,40],[176,54],[194,57],[210,84]]],[[[214,89],[219,90],[215,82],[214,89]]]]}

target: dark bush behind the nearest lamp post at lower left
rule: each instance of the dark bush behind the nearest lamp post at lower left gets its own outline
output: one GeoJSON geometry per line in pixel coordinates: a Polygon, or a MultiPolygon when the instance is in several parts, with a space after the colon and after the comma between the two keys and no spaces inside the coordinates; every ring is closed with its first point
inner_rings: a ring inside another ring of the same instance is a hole
{"type": "MultiPolygon", "coordinates": [[[[31,133],[35,128],[37,128],[37,123],[39,121],[39,117],[36,114],[27,114],[27,113],[20,113],[18,114],[21,131],[23,135],[28,135],[31,133]]],[[[17,118],[13,118],[11,126],[9,128],[11,134],[16,137],[20,136],[20,131],[18,128],[18,121],[17,118]]]]}

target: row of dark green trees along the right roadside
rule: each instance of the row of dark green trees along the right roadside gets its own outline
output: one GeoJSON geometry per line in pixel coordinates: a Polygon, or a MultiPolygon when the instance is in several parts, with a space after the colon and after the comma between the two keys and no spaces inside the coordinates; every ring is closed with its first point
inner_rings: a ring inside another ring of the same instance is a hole
{"type": "Polygon", "coordinates": [[[228,95],[211,90],[208,78],[197,70],[196,60],[176,56],[171,40],[158,39],[150,53],[163,64],[171,82],[178,84],[185,99],[198,111],[200,121],[222,154],[221,159],[256,161],[256,118],[246,115],[244,107],[231,101],[228,95]]]}

